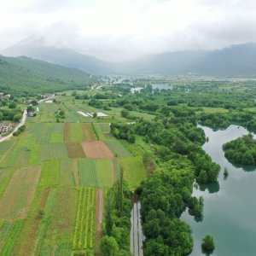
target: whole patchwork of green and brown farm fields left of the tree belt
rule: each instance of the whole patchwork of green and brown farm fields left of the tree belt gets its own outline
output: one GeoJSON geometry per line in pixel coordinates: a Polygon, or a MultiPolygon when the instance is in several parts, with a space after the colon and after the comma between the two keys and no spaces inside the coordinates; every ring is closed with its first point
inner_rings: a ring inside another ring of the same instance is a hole
{"type": "Polygon", "coordinates": [[[101,255],[104,199],[120,164],[132,186],[143,177],[142,158],[131,160],[140,147],[110,134],[109,122],[127,120],[116,109],[84,118],[77,111],[103,110],[71,94],[40,103],[26,131],[0,143],[0,255],[101,255]]]}

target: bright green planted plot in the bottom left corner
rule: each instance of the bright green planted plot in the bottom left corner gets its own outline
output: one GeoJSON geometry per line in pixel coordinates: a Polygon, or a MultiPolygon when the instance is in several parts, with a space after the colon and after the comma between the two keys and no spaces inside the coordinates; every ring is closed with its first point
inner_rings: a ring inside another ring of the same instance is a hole
{"type": "Polygon", "coordinates": [[[20,232],[23,220],[18,219],[15,223],[2,221],[0,223],[0,252],[1,255],[11,255],[10,251],[20,232]]]}

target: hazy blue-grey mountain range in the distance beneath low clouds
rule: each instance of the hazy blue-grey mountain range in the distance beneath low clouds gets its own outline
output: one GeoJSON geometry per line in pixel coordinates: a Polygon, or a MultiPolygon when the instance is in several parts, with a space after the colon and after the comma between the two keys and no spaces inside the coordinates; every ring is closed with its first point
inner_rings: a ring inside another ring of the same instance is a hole
{"type": "Polygon", "coordinates": [[[92,74],[189,74],[213,76],[255,76],[256,44],[237,44],[206,51],[177,51],[145,55],[134,61],[108,62],[72,49],[44,46],[41,40],[25,40],[3,50],[3,55],[26,55],[64,67],[78,68],[92,74]]]}

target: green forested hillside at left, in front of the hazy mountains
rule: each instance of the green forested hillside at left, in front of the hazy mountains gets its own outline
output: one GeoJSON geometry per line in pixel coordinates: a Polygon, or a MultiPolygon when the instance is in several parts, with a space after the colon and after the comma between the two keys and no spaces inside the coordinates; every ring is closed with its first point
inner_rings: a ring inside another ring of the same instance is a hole
{"type": "Polygon", "coordinates": [[[0,55],[0,92],[28,96],[84,88],[91,82],[93,79],[90,75],[78,69],[27,57],[11,58],[0,55]]]}

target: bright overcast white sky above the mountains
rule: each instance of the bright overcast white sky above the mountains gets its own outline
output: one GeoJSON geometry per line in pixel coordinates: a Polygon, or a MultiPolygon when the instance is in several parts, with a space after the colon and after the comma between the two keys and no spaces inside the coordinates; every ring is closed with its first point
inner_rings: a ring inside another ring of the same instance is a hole
{"type": "Polygon", "coordinates": [[[0,0],[0,50],[26,38],[106,61],[256,42],[255,0],[0,0]]]}

